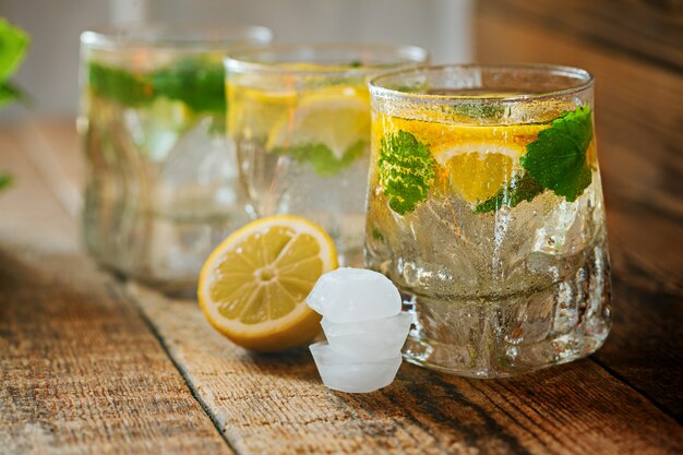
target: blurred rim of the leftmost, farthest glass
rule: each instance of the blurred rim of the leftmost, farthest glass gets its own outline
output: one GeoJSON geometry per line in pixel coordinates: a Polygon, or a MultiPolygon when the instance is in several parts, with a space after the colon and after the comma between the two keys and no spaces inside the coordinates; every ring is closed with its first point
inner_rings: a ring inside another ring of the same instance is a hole
{"type": "Polygon", "coordinates": [[[273,32],[261,25],[127,22],[89,27],[81,44],[95,48],[148,46],[154,48],[220,49],[240,41],[267,44],[273,32]]]}

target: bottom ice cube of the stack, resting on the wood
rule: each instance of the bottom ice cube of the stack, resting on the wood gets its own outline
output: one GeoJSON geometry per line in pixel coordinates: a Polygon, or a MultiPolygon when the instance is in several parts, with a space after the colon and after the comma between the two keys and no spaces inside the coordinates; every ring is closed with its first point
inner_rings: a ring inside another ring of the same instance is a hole
{"type": "Polygon", "coordinates": [[[362,394],[386,387],[394,381],[402,361],[400,355],[373,362],[357,360],[335,352],[325,342],[309,348],[323,384],[347,393],[362,394]]]}

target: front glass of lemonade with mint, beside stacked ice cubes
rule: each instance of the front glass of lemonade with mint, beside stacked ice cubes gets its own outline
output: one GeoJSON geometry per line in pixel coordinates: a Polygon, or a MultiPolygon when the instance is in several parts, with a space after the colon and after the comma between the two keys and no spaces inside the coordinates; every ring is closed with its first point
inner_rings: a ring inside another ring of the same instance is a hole
{"type": "Polygon", "coordinates": [[[430,67],[370,93],[366,262],[414,313],[405,358],[498,378],[597,350],[611,307],[591,75],[430,67]]]}

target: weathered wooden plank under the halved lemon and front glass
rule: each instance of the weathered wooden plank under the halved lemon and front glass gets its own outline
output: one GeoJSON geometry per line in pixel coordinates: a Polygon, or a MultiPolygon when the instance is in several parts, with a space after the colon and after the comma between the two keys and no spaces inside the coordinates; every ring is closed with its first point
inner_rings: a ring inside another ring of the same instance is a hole
{"type": "Polygon", "coordinates": [[[590,360],[508,381],[404,364],[367,395],[326,390],[307,349],[253,355],[196,302],[129,292],[243,454],[678,454],[681,428],[590,360]]]}

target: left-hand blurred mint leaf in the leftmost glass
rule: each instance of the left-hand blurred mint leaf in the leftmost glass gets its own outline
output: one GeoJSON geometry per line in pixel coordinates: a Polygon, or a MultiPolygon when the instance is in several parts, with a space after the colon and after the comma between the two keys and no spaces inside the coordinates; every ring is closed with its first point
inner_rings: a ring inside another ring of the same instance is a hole
{"type": "Polygon", "coordinates": [[[155,96],[152,84],[142,76],[97,62],[88,64],[91,89],[123,106],[143,106],[155,96]]]}

